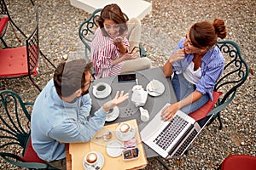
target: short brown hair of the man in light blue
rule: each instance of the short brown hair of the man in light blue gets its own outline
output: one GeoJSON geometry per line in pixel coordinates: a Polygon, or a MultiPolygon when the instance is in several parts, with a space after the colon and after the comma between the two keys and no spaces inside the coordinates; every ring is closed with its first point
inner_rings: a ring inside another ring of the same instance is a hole
{"type": "Polygon", "coordinates": [[[85,72],[91,73],[92,62],[85,59],[76,59],[63,62],[55,70],[54,83],[59,96],[67,97],[72,95],[85,83],[85,72]]]}

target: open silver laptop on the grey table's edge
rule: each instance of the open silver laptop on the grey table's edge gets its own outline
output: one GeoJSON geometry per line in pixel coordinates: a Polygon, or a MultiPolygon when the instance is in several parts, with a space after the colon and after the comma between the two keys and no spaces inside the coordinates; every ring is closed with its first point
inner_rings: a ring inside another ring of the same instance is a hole
{"type": "MultiPolygon", "coordinates": [[[[166,104],[163,109],[170,104],[166,104]]],[[[141,131],[144,144],[165,158],[182,156],[203,127],[193,118],[177,111],[171,122],[161,120],[161,109],[141,131]]]]}

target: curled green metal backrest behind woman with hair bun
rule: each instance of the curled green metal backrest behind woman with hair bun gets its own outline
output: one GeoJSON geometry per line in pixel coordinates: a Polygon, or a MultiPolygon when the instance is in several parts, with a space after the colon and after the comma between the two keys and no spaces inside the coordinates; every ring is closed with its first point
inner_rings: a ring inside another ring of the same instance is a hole
{"type": "Polygon", "coordinates": [[[248,77],[249,68],[247,62],[242,58],[240,48],[236,42],[218,41],[217,46],[224,55],[226,64],[224,65],[224,72],[216,82],[214,90],[223,94],[208,115],[214,114],[214,118],[218,116],[220,122],[219,129],[221,129],[222,122],[219,112],[224,110],[235,98],[237,88],[241,87],[248,77]]]}

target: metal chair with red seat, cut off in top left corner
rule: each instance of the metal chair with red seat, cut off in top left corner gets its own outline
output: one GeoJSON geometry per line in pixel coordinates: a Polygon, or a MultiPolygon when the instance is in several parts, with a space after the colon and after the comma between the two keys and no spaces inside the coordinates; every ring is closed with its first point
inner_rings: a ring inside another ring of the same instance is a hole
{"type": "MultiPolygon", "coordinates": [[[[33,1],[31,0],[32,5],[34,6],[33,1]]],[[[3,46],[4,48],[9,48],[8,44],[4,41],[3,36],[5,35],[5,32],[7,30],[8,27],[8,23],[10,24],[10,26],[12,27],[13,32],[15,33],[15,37],[17,38],[17,40],[19,42],[21,42],[20,38],[17,36],[15,28],[20,31],[20,33],[22,34],[23,37],[27,38],[26,34],[24,33],[24,31],[21,31],[19,26],[17,26],[15,24],[15,22],[12,20],[10,14],[9,14],[9,10],[7,8],[6,3],[4,2],[4,0],[0,0],[0,5],[1,5],[1,11],[0,11],[0,16],[2,17],[0,19],[0,39],[3,42],[3,46]]],[[[54,68],[55,65],[41,52],[41,50],[39,50],[40,54],[44,57],[44,59],[46,59],[50,65],[52,65],[54,68]]]]}

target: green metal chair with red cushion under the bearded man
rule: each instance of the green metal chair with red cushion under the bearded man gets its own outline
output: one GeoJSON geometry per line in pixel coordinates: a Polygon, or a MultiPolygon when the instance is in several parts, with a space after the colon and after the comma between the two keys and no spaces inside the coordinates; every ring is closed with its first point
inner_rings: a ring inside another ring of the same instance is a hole
{"type": "Polygon", "coordinates": [[[17,167],[55,169],[32,150],[30,113],[32,102],[23,102],[9,90],[0,92],[0,156],[17,167]]]}

